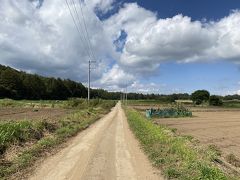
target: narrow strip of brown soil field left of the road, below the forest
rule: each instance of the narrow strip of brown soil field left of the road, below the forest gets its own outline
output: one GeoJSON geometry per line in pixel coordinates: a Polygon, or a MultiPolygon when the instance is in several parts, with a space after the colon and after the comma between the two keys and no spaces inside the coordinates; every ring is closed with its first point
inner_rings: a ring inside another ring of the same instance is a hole
{"type": "Polygon", "coordinates": [[[72,112],[60,108],[0,108],[0,121],[9,120],[56,120],[72,112]]]}

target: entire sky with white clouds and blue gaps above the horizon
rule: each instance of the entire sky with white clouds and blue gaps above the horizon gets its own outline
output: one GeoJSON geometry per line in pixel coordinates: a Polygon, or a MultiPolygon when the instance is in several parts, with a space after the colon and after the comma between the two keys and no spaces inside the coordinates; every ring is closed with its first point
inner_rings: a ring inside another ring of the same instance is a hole
{"type": "Polygon", "coordinates": [[[89,59],[94,88],[240,94],[240,2],[0,0],[0,64],[86,84],[89,59]]]}

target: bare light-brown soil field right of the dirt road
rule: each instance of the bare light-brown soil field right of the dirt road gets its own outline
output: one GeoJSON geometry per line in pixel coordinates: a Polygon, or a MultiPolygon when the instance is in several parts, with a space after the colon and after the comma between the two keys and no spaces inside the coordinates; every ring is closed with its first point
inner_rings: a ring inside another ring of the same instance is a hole
{"type": "MultiPolygon", "coordinates": [[[[216,109],[215,109],[216,110],[216,109]]],[[[192,118],[165,118],[156,122],[176,128],[182,135],[191,135],[203,145],[216,145],[223,156],[240,158],[240,110],[196,110],[192,118]]]]}

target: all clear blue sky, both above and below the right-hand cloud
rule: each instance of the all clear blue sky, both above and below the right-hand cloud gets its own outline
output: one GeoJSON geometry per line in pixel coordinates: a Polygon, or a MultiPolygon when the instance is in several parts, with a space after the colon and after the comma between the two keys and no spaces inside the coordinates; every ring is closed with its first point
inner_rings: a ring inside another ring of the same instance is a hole
{"type": "MultiPolygon", "coordinates": [[[[156,12],[158,18],[171,18],[177,14],[190,17],[193,21],[218,21],[228,16],[233,10],[240,9],[240,2],[235,0],[123,0],[122,3],[137,2],[138,5],[156,12]]],[[[118,11],[116,8],[104,18],[118,11]]],[[[103,17],[102,17],[103,18],[103,17]]],[[[162,63],[157,73],[141,82],[160,84],[161,93],[187,92],[207,89],[214,94],[233,94],[240,88],[240,66],[221,59],[220,62],[202,63],[162,63]],[[165,87],[166,86],[166,87],[165,87]]]]}

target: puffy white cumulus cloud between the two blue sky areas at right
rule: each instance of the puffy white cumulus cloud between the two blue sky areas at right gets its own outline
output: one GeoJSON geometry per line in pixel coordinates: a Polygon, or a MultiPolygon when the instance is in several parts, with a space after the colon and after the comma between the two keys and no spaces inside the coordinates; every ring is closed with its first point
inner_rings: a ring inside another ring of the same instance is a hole
{"type": "Polygon", "coordinates": [[[109,33],[127,34],[119,64],[135,73],[152,72],[166,61],[240,60],[240,11],[219,21],[192,21],[178,14],[158,19],[136,3],[125,6],[106,21],[109,33]]]}

